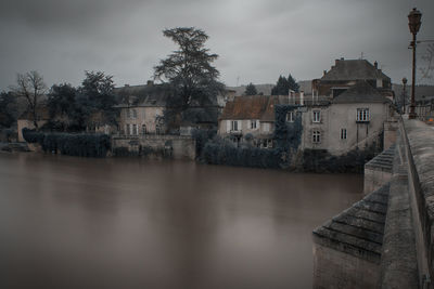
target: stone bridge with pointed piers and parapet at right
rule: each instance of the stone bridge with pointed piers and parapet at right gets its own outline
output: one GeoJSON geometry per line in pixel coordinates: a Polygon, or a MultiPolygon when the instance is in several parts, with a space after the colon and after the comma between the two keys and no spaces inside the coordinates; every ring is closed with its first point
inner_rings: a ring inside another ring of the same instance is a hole
{"type": "Polygon", "coordinates": [[[434,127],[396,124],[367,196],[314,231],[315,288],[434,288],[434,127]]]}

